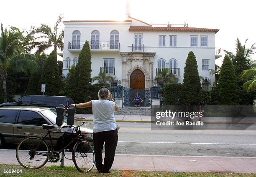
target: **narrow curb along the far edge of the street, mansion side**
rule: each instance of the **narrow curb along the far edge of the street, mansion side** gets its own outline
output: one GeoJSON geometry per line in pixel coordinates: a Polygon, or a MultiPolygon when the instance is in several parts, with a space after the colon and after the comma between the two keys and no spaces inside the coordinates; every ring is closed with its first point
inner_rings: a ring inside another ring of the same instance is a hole
{"type": "MultiPolygon", "coordinates": [[[[93,119],[77,119],[75,118],[75,120],[78,121],[89,121],[89,122],[93,122],[93,119]]],[[[115,120],[115,122],[138,122],[138,123],[155,123],[155,121],[151,121],[151,120],[115,120]]],[[[182,121],[178,121],[178,122],[182,122],[182,121]]],[[[255,124],[255,122],[207,122],[207,121],[201,121],[204,124],[241,124],[241,125],[253,125],[255,124]]]]}

